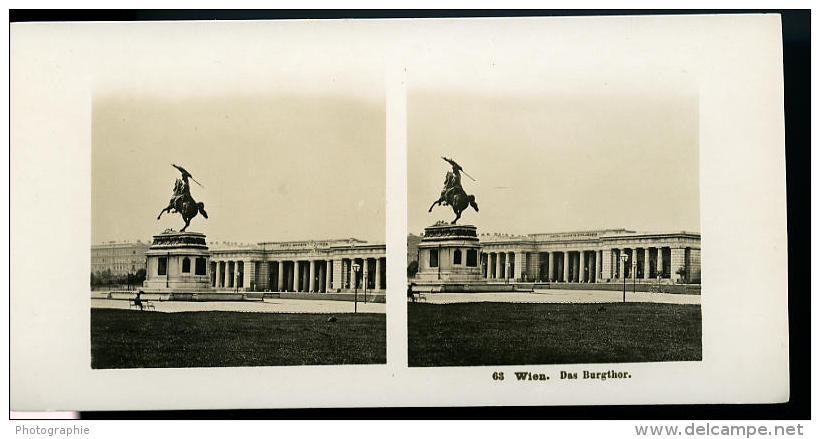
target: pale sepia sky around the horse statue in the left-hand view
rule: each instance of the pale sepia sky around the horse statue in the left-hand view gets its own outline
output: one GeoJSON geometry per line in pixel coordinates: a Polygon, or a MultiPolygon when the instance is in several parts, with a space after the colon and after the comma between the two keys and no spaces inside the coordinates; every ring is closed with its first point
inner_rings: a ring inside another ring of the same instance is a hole
{"type": "Polygon", "coordinates": [[[179,230],[179,172],[214,241],[384,241],[384,109],[344,95],[105,96],[93,103],[92,242],[179,230]]]}

